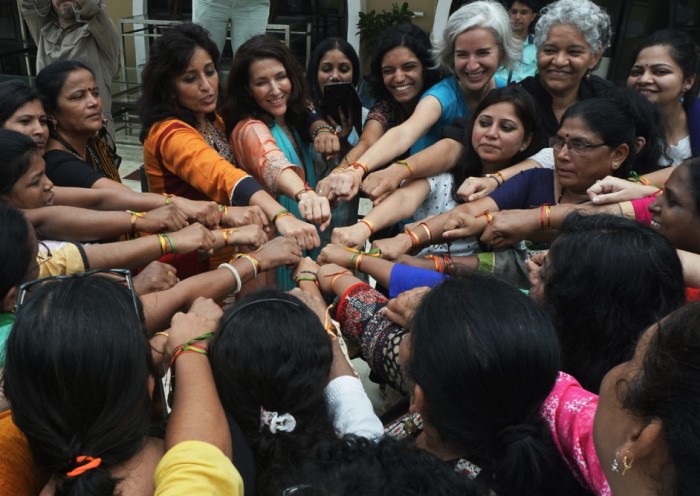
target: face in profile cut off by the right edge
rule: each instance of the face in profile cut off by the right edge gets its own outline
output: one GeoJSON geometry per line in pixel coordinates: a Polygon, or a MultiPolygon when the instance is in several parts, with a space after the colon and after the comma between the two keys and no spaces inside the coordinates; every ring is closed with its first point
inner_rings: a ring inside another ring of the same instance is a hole
{"type": "Polygon", "coordinates": [[[664,192],[649,205],[649,211],[651,227],[666,236],[675,248],[700,253],[700,215],[692,183],[690,168],[676,167],[664,192]]]}

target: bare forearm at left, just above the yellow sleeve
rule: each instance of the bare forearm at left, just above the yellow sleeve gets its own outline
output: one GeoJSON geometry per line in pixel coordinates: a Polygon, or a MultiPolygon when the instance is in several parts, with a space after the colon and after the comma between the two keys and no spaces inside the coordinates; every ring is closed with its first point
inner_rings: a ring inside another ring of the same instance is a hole
{"type": "Polygon", "coordinates": [[[131,214],[52,206],[24,210],[42,239],[95,241],[131,232],[131,214]]]}

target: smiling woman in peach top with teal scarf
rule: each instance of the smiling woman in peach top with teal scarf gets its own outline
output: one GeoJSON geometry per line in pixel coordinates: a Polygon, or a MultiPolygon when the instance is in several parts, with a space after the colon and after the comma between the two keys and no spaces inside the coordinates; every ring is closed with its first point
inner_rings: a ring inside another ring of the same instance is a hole
{"type": "MultiPolygon", "coordinates": [[[[296,217],[330,223],[328,199],[314,188],[316,176],[308,143],[300,131],[308,121],[304,73],[294,54],[279,40],[254,36],[236,52],[222,110],[239,165],[296,217]]],[[[318,234],[314,244],[318,246],[318,234]]],[[[289,273],[278,274],[289,287],[289,273]]]]}

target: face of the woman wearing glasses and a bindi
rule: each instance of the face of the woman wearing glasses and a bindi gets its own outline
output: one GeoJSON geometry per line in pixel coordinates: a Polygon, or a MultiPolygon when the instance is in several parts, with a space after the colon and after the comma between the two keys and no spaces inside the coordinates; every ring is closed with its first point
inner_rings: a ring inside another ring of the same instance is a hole
{"type": "MultiPolygon", "coordinates": [[[[564,120],[557,138],[567,142],[603,145],[603,140],[579,117],[564,120]]],[[[627,158],[627,145],[596,146],[572,150],[568,145],[554,149],[555,174],[562,189],[585,193],[598,179],[611,175],[627,158]]]]}

